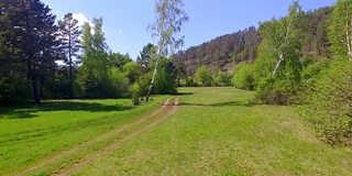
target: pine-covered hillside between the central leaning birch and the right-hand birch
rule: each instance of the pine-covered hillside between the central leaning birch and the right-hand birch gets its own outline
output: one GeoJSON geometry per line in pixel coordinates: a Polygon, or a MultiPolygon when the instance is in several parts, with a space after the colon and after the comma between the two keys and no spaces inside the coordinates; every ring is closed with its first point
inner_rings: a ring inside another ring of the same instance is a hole
{"type": "Polygon", "coordinates": [[[230,64],[233,66],[240,62],[253,62],[260,42],[257,29],[249,26],[178,52],[175,63],[185,73],[183,78],[194,76],[200,65],[216,65],[217,69],[226,70],[230,64]]]}

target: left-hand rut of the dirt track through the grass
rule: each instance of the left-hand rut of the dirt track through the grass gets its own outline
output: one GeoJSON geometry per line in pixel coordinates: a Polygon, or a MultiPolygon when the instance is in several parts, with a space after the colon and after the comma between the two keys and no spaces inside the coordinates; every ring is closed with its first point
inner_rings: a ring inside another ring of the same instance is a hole
{"type": "Polygon", "coordinates": [[[109,139],[109,138],[111,138],[111,136],[113,136],[113,135],[116,135],[116,134],[118,134],[118,133],[121,133],[121,132],[123,132],[123,131],[125,131],[125,130],[129,130],[130,128],[133,128],[133,127],[135,127],[135,125],[139,125],[139,124],[143,123],[144,121],[146,121],[146,120],[148,120],[148,119],[151,119],[151,118],[160,114],[162,111],[164,111],[164,110],[165,110],[165,107],[169,106],[170,99],[172,99],[172,98],[167,99],[167,100],[163,103],[163,106],[162,106],[161,108],[158,108],[158,109],[156,109],[156,110],[153,110],[153,111],[150,112],[150,114],[147,114],[145,118],[142,118],[142,119],[140,119],[140,120],[138,120],[138,121],[135,121],[135,122],[133,122],[133,123],[129,123],[129,124],[122,125],[122,127],[120,127],[120,128],[117,129],[117,130],[110,131],[110,132],[105,133],[105,134],[102,134],[102,135],[100,135],[100,136],[98,136],[98,138],[95,138],[95,139],[92,139],[92,140],[89,140],[89,141],[87,141],[87,142],[84,142],[84,143],[81,143],[81,144],[79,144],[79,145],[76,145],[76,146],[74,146],[74,147],[72,147],[72,148],[69,148],[69,150],[67,150],[67,151],[63,151],[63,152],[61,152],[61,153],[58,153],[58,154],[56,154],[56,155],[54,155],[54,156],[51,156],[51,157],[48,157],[48,158],[46,158],[46,160],[44,160],[44,161],[42,161],[42,162],[40,162],[40,163],[36,163],[36,164],[34,164],[34,165],[25,168],[24,170],[22,170],[22,172],[20,172],[20,173],[13,173],[13,174],[11,174],[11,175],[19,175],[19,176],[21,176],[21,175],[28,175],[28,174],[30,174],[31,172],[34,172],[34,170],[36,170],[36,169],[38,169],[38,168],[45,167],[45,166],[47,166],[47,165],[51,165],[51,164],[57,162],[57,161],[61,160],[61,158],[65,158],[65,157],[67,157],[67,156],[70,156],[70,155],[77,153],[78,151],[81,151],[81,150],[84,150],[84,148],[87,148],[87,147],[89,147],[89,146],[92,145],[92,144],[96,144],[96,143],[98,143],[98,142],[105,141],[105,140],[107,140],[107,139],[109,139]]]}

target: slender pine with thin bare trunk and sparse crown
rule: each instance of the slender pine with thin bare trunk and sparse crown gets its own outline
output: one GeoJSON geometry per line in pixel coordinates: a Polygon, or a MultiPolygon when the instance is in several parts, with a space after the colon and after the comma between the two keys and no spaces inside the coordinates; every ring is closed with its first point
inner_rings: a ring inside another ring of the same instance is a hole
{"type": "Polygon", "coordinates": [[[73,13],[67,13],[63,20],[58,21],[61,47],[65,52],[67,58],[65,63],[69,66],[69,98],[74,98],[74,59],[79,58],[78,52],[81,48],[79,36],[81,30],[78,26],[78,21],[73,18],[73,13]]]}

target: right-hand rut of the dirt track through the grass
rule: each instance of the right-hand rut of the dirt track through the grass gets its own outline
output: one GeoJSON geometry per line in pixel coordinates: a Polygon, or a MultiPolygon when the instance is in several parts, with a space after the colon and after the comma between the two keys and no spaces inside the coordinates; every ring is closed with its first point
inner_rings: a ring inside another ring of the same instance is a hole
{"type": "Polygon", "coordinates": [[[164,105],[164,106],[170,106],[170,110],[167,114],[163,116],[162,118],[157,119],[156,121],[152,122],[151,124],[147,124],[146,127],[135,131],[134,133],[117,141],[113,144],[110,144],[103,148],[101,148],[100,151],[86,155],[86,157],[81,158],[80,161],[78,161],[77,163],[75,163],[72,166],[67,166],[65,168],[62,168],[61,170],[53,173],[52,175],[54,176],[66,176],[66,175],[72,175],[74,172],[76,172],[77,169],[86,166],[87,164],[94,162],[95,160],[114,151],[118,150],[120,147],[121,144],[129,142],[135,138],[138,138],[139,135],[152,130],[154,127],[156,127],[157,124],[162,123],[163,121],[165,121],[168,117],[170,117],[173,113],[175,113],[178,109],[178,105],[179,105],[179,97],[176,98],[175,102],[170,106],[170,105],[164,105]]]}

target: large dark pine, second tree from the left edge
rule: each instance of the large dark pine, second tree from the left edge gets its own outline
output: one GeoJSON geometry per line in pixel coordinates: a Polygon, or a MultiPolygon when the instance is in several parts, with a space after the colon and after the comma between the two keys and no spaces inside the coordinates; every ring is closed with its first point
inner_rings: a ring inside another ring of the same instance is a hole
{"type": "Polygon", "coordinates": [[[41,102],[40,78],[48,76],[55,67],[57,56],[56,40],[57,26],[55,15],[51,9],[40,0],[15,0],[20,16],[14,24],[23,31],[23,53],[25,56],[28,76],[31,79],[33,99],[35,103],[41,102]]]}

